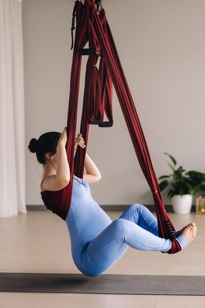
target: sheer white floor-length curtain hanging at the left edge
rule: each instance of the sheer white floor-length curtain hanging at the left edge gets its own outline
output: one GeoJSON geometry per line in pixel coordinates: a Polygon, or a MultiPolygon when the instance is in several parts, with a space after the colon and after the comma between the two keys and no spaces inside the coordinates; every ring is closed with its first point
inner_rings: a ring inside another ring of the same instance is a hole
{"type": "Polygon", "coordinates": [[[21,0],[0,0],[0,217],[27,213],[21,0]]]}

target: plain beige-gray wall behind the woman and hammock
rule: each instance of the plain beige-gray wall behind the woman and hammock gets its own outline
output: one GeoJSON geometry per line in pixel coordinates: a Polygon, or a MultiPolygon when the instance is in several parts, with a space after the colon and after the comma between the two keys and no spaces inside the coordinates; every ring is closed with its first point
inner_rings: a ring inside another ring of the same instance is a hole
{"type": "MultiPolygon", "coordinates": [[[[205,172],[205,1],[102,0],[156,176],[173,154],[185,169],[205,172]]],[[[23,0],[28,205],[43,204],[42,166],[29,140],[66,125],[74,0],[23,0]]],[[[77,132],[87,57],[83,58],[77,132]]],[[[153,204],[116,93],[114,126],[90,125],[88,154],[102,179],[90,185],[100,205],[153,204]]],[[[165,204],[171,204],[165,194],[165,204]]]]}

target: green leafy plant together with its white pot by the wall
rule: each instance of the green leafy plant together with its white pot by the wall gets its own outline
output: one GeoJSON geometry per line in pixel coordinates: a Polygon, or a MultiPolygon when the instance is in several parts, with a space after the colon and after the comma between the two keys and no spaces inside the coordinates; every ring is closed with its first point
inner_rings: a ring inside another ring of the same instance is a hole
{"type": "Polygon", "coordinates": [[[173,173],[159,178],[159,180],[163,179],[159,188],[162,191],[169,185],[168,197],[172,198],[174,212],[188,214],[191,211],[193,195],[205,190],[205,174],[198,171],[185,172],[182,166],[176,168],[176,159],[168,153],[164,154],[168,155],[172,161],[169,166],[173,173]]]}

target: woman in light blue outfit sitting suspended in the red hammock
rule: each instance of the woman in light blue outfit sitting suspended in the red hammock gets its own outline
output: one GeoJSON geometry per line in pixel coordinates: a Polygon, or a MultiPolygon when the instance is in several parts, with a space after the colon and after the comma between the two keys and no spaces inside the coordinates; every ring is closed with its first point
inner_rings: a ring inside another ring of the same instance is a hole
{"type": "MultiPolygon", "coordinates": [[[[43,164],[41,193],[58,191],[70,181],[66,141],[66,127],[62,134],[49,132],[38,140],[30,140],[30,152],[36,153],[39,163],[43,164]]],[[[75,151],[78,146],[86,147],[80,133],[75,139],[75,151]]],[[[87,174],[83,179],[73,176],[71,204],[65,219],[73,261],[79,271],[90,277],[99,276],[116,263],[129,246],[163,252],[171,249],[171,240],[158,237],[156,217],[141,204],[132,204],[112,221],[90,195],[89,185],[98,182],[101,175],[88,154],[85,168],[87,174]]],[[[196,231],[194,222],[175,231],[182,249],[193,241],[196,231]]]]}

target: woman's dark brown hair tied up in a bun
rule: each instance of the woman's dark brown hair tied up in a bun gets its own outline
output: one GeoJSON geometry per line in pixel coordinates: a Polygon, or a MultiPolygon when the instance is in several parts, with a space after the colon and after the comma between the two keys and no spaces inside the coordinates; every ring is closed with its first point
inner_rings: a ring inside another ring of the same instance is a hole
{"type": "Polygon", "coordinates": [[[46,163],[46,153],[50,153],[51,155],[56,154],[60,136],[61,133],[50,131],[42,134],[38,140],[35,138],[30,140],[28,148],[31,153],[36,153],[37,160],[40,164],[46,163]]]}

